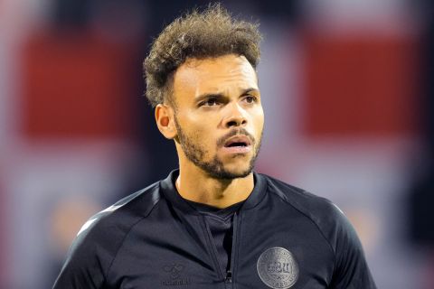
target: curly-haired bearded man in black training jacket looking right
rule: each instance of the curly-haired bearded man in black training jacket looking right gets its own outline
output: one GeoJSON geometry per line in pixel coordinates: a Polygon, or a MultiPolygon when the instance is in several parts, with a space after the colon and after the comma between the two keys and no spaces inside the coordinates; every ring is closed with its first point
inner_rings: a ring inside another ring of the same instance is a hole
{"type": "Polygon", "coordinates": [[[146,96],[179,170],[91,218],[54,288],[375,288],[335,205],[252,172],[259,40],[220,5],[158,36],[146,96]]]}

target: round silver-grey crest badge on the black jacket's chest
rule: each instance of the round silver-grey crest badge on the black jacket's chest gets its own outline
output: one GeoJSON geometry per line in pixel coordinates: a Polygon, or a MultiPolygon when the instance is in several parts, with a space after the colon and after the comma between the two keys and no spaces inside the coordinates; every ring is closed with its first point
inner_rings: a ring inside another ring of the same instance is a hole
{"type": "Polygon", "coordinates": [[[260,280],[273,289],[288,289],[296,284],[298,265],[295,257],[284,247],[270,247],[258,259],[260,280]]]}

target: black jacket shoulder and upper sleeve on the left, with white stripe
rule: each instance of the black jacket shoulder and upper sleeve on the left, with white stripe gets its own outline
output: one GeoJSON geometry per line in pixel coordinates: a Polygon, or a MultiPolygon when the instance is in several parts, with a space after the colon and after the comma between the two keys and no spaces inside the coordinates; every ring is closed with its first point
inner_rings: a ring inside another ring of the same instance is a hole
{"type": "Polygon", "coordinates": [[[73,241],[53,288],[102,288],[123,240],[158,200],[156,182],[91,217],[73,241]]]}

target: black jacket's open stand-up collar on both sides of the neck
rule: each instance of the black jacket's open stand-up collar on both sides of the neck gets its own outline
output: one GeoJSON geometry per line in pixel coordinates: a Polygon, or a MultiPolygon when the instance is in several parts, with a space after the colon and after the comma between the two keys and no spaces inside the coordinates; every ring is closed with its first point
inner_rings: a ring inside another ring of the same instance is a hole
{"type": "MultiPolygon", "coordinates": [[[[196,214],[197,211],[188,204],[186,200],[181,197],[176,190],[175,181],[179,175],[179,170],[175,170],[169,173],[169,175],[162,181],[160,181],[160,188],[163,195],[169,200],[175,207],[184,210],[185,212],[196,214]]],[[[255,187],[251,191],[250,196],[244,201],[240,210],[250,210],[254,208],[264,198],[267,189],[267,179],[264,175],[253,172],[253,179],[255,187]]]]}

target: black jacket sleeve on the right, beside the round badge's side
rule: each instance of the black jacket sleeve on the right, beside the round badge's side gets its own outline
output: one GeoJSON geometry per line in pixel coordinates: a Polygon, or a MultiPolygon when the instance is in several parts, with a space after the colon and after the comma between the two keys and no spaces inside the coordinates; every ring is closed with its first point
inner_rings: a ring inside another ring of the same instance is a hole
{"type": "Polygon", "coordinates": [[[335,272],[331,288],[376,289],[357,234],[337,207],[335,214],[335,272]]]}

